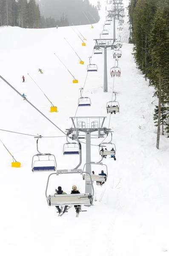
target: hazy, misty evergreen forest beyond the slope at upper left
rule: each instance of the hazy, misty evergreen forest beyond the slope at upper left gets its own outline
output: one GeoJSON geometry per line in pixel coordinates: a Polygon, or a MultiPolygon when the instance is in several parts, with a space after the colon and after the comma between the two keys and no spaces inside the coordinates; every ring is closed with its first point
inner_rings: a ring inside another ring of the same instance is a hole
{"type": "Polygon", "coordinates": [[[0,26],[50,28],[95,23],[100,17],[89,0],[0,0],[0,26]],[[90,12],[90,14],[89,14],[90,12]]]}

